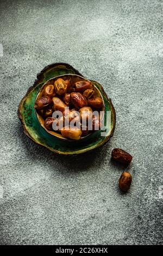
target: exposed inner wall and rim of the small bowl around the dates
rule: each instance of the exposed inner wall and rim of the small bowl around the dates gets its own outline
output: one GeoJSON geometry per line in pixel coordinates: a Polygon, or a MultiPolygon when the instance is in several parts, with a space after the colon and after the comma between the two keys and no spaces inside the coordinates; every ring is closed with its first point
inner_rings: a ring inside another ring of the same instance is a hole
{"type": "MultiPolygon", "coordinates": [[[[84,78],[84,77],[82,77],[82,76],[79,76],[79,75],[74,75],[74,74],[66,74],[66,75],[60,75],[60,76],[57,76],[57,77],[53,77],[53,78],[51,78],[51,79],[49,79],[46,83],[44,83],[43,84],[43,86],[40,88],[40,90],[39,90],[39,93],[37,94],[37,96],[36,96],[36,100],[37,99],[40,99],[42,96],[43,96],[43,92],[44,92],[44,89],[45,89],[45,87],[46,86],[48,86],[49,84],[54,84],[54,82],[58,79],[58,78],[62,78],[62,79],[64,79],[64,80],[70,80],[71,81],[71,83],[72,84],[74,84],[74,83],[76,83],[76,82],[78,82],[78,81],[90,81],[90,80],[87,80],[86,78],[84,78]]],[[[93,83],[93,82],[92,82],[93,83]]],[[[95,84],[93,84],[93,89],[95,90],[95,96],[98,96],[98,97],[101,97],[102,98],[102,100],[103,100],[103,96],[102,96],[102,94],[101,94],[101,92],[98,90],[98,88],[96,87],[96,85],[95,84]]],[[[103,100],[103,106],[104,106],[104,100],[103,100]]],[[[103,111],[103,113],[104,113],[104,108],[105,108],[105,106],[102,108],[102,109],[100,109],[101,111],[103,111]]],[[[36,109],[35,109],[35,111],[36,111],[36,109]]],[[[48,133],[50,133],[51,135],[53,135],[53,136],[55,136],[55,137],[58,137],[59,139],[62,139],[62,140],[65,140],[65,141],[73,141],[74,142],[74,140],[72,140],[72,139],[67,139],[67,138],[65,138],[65,137],[63,137],[62,135],[61,135],[61,133],[59,133],[59,132],[56,132],[56,131],[50,131],[50,130],[48,130],[48,129],[46,129],[46,127],[45,127],[45,125],[44,125],[44,123],[45,123],[45,119],[42,117],[42,115],[40,114],[40,111],[36,111],[36,115],[37,115],[37,118],[38,118],[38,120],[39,120],[39,122],[40,122],[40,124],[41,124],[41,126],[43,127],[43,129],[45,129],[48,133]]],[[[103,114],[103,116],[102,116],[102,120],[103,120],[103,118],[104,118],[104,114],[103,114]]],[[[91,135],[91,133],[89,133],[87,136],[84,136],[84,137],[81,137],[80,139],[78,139],[78,141],[81,141],[81,140],[83,140],[83,139],[86,139],[87,137],[89,137],[91,135]]]]}

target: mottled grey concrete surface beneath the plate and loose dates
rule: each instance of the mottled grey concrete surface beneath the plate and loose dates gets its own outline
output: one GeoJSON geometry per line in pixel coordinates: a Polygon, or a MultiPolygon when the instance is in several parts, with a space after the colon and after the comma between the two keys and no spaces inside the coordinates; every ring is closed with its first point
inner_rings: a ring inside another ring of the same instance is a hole
{"type": "Polygon", "coordinates": [[[2,245],[162,244],[161,22],[159,0],[0,1],[2,245]],[[103,148],[67,158],[24,135],[18,103],[54,62],[111,97],[117,123],[103,148]],[[134,156],[127,194],[116,147],[134,156]]]}

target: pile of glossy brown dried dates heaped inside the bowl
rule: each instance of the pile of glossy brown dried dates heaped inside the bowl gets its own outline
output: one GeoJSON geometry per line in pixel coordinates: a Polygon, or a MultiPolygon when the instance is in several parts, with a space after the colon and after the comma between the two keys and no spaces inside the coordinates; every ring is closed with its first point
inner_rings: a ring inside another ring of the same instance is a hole
{"type": "Polygon", "coordinates": [[[100,115],[94,115],[93,111],[102,111],[103,100],[90,81],[58,78],[43,88],[34,108],[44,119],[46,129],[65,138],[80,139],[101,127],[100,115]],[[58,112],[62,113],[60,117],[58,112]]]}

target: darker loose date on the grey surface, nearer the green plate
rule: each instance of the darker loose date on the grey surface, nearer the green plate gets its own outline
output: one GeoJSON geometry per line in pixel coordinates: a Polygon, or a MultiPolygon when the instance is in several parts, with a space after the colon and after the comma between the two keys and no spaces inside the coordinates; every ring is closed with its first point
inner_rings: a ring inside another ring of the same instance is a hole
{"type": "Polygon", "coordinates": [[[112,150],[111,156],[113,160],[123,163],[124,165],[128,165],[133,159],[129,153],[118,148],[112,150]]]}

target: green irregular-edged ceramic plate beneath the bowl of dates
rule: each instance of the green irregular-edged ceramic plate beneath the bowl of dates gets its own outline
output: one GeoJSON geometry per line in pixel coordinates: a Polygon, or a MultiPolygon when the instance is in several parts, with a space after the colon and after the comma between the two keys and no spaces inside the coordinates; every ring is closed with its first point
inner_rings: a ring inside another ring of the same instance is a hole
{"type": "Polygon", "coordinates": [[[109,141],[110,137],[112,137],[116,123],[115,109],[112,105],[111,99],[108,99],[101,84],[96,81],[89,80],[93,83],[93,86],[97,88],[104,102],[105,135],[101,136],[101,131],[95,131],[89,136],[86,136],[85,139],[79,139],[78,141],[71,142],[67,140],[65,142],[64,139],[60,139],[57,136],[50,134],[44,127],[42,127],[34,109],[35,99],[40,92],[41,87],[51,78],[54,79],[61,75],[70,74],[83,77],[83,75],[76,69],[66,63],[54,63],[46,66],[46,68],[37,75],[37,80],[34,85],[28,89],[28,92],[18,106],[18,117],[23,124],[24,133],[35,143],[52,150],[54,153],[62,155],[81,154],[104,145],[109,141]],[[107,118],[107,111],[110,111],[110,120],[107,118]]]}

